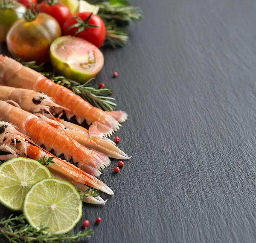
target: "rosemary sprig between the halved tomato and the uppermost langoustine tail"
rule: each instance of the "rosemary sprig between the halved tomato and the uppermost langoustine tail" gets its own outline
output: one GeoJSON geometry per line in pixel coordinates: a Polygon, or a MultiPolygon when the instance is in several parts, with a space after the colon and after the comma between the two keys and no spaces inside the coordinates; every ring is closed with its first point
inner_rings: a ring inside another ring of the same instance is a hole
{"type": "Polygon", "coordinates": [[[84,100],[94,103],[99,109],[105,111],[113,111],[116,107],[115,100],[109,97],[112,89],[108,89],[107,85],[103,89],[98,89],[96,86],[91,86],[90,82],[93,79],[88,80],[84,84],[80,84],[74,80],[67,79],[65,77],[52,77],[54,83],[58,83],[68,89],[71,89],[75,94],[80,95],[84,100]]]}

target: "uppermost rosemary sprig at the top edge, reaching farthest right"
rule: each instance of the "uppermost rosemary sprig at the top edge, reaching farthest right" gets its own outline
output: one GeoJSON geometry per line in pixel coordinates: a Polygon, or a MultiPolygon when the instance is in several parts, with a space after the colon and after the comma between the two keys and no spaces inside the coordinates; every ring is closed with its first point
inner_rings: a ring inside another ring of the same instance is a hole
{"type": "Polygon", "coordinates": [[[142,18],[139,7],[131,6],[124,0],[109,0],[97,3],[99,17],[104,20],[116,20],[119,23],[129,23],[142,18]]]}

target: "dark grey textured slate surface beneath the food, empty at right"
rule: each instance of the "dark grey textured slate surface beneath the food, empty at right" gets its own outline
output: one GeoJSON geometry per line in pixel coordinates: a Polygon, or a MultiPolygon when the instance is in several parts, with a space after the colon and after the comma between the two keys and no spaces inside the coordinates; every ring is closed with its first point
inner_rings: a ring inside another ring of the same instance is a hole
{"type": "Polygon", "coordinates": [[[256,242],[255,1],[131,3],[144,18],[97,81],[130,115],[117,135],[133,157],[105,169],[108,203],[84,206],[102,217],[90,242],[256,242]]]}

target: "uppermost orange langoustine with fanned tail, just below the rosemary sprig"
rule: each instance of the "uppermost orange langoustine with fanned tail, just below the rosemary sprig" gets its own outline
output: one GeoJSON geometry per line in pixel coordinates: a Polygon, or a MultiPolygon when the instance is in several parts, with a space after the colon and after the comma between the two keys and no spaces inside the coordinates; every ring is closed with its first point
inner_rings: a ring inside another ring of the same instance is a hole
{"type": "Polygon", "coordinates": [[[102,137],[103,134],[111,135],[121,126],[119,122],[127,120],[127,114],[124,111],[107,112],[93,107],[71,90],[2,55],[0,55],[0,81],[7,86],[44,92],[54,98],[58,105],[67,109],[68,119],[75,115],[79,123],[86,120],[88,125],[91,124],[89,133],[96,137],[102,137]]]}

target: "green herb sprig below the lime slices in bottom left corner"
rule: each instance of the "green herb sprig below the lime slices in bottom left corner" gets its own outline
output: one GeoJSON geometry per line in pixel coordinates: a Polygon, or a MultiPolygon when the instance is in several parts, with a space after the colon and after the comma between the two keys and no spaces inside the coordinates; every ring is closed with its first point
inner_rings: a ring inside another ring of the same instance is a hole
{"type": "Polygon", "coordinates": [[[49,228],[42,227],[40,230],[33,228],[29,225],[25,216],[21,214],[20,216],[10,215],[9,218],[3,218],[0,220],[0,235],[5,236],[10,243],[57,243],[57,242],[75,242],[76,239],[90,237],[92,230],[80,231],[77,234],[74,231],[68,232],[66,234],[49,234],[47,230],[49,228]]]}

